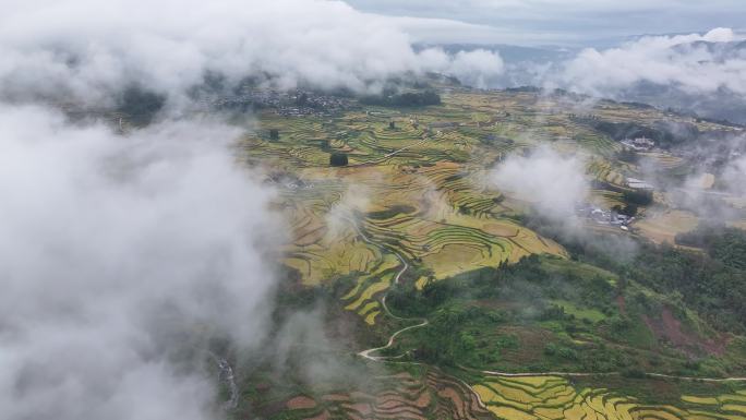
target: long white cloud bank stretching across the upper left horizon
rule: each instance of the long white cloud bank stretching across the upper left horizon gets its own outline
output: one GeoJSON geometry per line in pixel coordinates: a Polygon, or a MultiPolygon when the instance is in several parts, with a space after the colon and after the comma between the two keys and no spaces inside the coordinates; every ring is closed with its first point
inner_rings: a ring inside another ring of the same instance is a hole
{"type": "Polygon", "coordinates": [[[408,72],[501,67],[483,52],[416,52],[394,20],[324,0],[11,0],[0,55],[0,97],[96,104],[129,85],[183,94],[208,73],[362,92],[408,72]]]}

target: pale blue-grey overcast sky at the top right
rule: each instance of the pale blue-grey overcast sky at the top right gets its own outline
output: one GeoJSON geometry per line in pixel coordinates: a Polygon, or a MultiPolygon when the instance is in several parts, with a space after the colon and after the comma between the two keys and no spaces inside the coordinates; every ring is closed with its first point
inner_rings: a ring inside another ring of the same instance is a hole
{"type": "Polygon", "coordinates": [[[438,20],[402,20],[418,40],[438,43],[600,45],[631,35],[746,27],[743,0],[346,1],[365,12],[438,20]]]}

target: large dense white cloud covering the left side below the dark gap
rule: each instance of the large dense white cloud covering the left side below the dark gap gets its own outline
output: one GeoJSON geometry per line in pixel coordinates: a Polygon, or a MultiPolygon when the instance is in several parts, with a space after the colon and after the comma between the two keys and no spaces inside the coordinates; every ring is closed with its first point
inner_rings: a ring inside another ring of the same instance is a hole
{"type": "Polygon", "coordinates": [[[197,331],[257,346],[275,284],[270,192],[236,167],[237,134],[0,105],[3,418],[213,417],[213,381],[172,357],[197,331]]]}

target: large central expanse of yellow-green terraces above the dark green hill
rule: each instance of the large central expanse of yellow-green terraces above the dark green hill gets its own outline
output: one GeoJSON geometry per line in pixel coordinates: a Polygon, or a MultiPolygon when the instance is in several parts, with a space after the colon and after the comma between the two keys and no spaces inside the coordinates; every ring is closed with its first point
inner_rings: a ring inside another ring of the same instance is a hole
{"type": "MultiPolygon", "coordinates": [[[[618,143],[570,118],[562,97],[454,89],[443,99],[437,107],[360,107],[327,118],[265,112],[262,129],[240,145],[245,160],[276,173],[284,187],[278,205],[293,227],[285,263],[306,285],[357,276],[344,304],[369,324],[381,313],[376,302],[395,253],[421,273],[419,286],[529,254],[566,255],[515,221],[526,203],[490,187],[489,170],[507,155],[552,144],[586,156],[589,179],[618,191],[636,170],[615,159],[618,143]],[[268,139],[269,129],[278,130],[278,140],[268,139]],[[348,155],[348,167],[329,167],[334,152],[348,155]]],[[[612,103],[594,112],[611,121],[652,121],[612,103]]],[[[646,159],[665,168],[681,164],[664,154],[646,159]]],[[[591,201],[624,206],[618,191],[592,190],[591,201]]]]}

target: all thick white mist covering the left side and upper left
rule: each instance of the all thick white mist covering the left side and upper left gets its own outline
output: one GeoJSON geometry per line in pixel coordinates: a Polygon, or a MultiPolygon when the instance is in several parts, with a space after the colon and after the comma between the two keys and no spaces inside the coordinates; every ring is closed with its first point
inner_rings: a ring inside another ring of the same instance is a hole
{"type": "Polygon", "coordinates": [[[195,87],[502,71],[321,0],[11,0],[0,55],[0,407],[19,420],[220,418],[210,340],[272,343],[285,226],[229,147],[244,129],[196,112],[195,87]],[[157,118],[96,118],[133,88],[157,118]]]}

